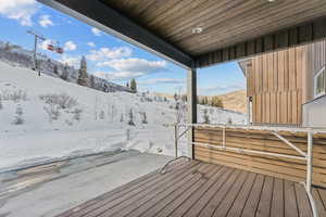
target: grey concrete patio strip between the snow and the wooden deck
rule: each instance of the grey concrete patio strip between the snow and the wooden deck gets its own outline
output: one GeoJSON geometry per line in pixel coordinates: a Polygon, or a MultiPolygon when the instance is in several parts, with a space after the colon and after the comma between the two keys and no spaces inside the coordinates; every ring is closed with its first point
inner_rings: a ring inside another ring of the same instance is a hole
{"type": "Polygon", "coordinates": [[[161,168],[170,159],[128,151],[0,174],[0,216],[52,217],[161,168]]]}

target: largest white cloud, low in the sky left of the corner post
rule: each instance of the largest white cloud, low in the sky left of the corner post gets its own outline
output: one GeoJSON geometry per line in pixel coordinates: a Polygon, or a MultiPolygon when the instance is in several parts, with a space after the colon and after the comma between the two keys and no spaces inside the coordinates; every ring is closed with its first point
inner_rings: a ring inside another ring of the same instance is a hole
{"type": "MultiPolygon", "coordinates": [[[[122,59],[101,63],[115,71],[96,72],[95,75],[109,80],[128,80],[161,72],[166,68],[165,61],[148,61],[143,59],[122,59]]],[[[167,80],[166,80],[167,81],[167,80]]]]}

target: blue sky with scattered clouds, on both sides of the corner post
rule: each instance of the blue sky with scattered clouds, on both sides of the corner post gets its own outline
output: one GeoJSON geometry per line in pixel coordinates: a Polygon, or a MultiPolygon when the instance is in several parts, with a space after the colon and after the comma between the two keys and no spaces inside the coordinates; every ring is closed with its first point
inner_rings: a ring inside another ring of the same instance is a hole
{"type": "MultiPolygon", "coordinates": [[[[34,38],[26,30],[43,35],[39,52],[78,67],[87,58],[88,73],[116,84],[133,77],[141,90],[174,93],[185,90],[186,71],[118,38],[106,35],[35,0],[0,0],[0,40],[33,49],[34,38]],[[59,41],[60,55],[47,51],[47,44],[59,41]]],[[[244,89],[246,79],[236,62],[198,71],[199,94],[221,94],[244,89]]]]}

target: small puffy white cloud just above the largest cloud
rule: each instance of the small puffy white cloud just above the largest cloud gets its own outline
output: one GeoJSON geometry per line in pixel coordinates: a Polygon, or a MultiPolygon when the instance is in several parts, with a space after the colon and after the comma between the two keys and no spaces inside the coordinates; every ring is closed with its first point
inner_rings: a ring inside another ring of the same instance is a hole
{"type": "Polygon", "coordinates": [[[90,61],[105,61],[108,59],[120,59],[130,56],[133,50],[127,47],[121,48],[101,48],[100,50],[91,50],[86,58],[90,61]]]}

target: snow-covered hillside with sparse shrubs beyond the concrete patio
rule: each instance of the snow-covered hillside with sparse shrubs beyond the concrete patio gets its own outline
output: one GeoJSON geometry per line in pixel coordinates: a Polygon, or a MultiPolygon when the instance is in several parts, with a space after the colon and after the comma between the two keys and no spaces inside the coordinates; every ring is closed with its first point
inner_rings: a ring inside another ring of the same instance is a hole
{"type": "MultiPolygon", "coordinates": [[[[0,62],[0,171],[53,157],[113,150],[174,154],[185,122],[175,100],[101,92],[0,62]]],[[[181,105],[181,104],[180,104],[181,105]]],[[[199,106],[199,122],[244,124],[246,115],[199,106]]],[[[186,154],[185,144],[180,154],[186,154]]]]}

